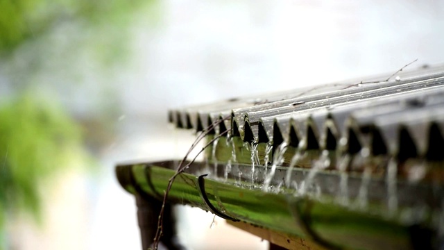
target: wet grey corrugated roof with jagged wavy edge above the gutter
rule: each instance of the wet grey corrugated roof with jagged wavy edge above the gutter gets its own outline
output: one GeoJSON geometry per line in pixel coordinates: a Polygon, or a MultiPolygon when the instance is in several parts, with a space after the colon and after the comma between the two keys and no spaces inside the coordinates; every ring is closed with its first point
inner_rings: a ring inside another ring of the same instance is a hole
{"type": "Polygon", "coordinates": [[[411,140],[416,156],[430,156],[436,150],[430,142],[441,143],[444,134],[444,67],[387,80],[230,99],[170,110],[169,119],[178,128],[202,131],[231,115],[213,132],[230,129],[231,136],[244,142],[287,142],[300,149],[332,150],[339,140],[353,142],[341,144],[345,153],[362,147],[381,153],[375,149],[379,145],[385,153],[404,156],[403,150],[413,149],[400,144],[411,140]]]}

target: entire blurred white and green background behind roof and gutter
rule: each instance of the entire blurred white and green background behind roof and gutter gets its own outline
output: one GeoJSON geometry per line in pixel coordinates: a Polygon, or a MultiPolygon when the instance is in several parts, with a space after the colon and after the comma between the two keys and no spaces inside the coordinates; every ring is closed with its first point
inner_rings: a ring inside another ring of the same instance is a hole
{"type": "MultiPolygon", "coordinates": [[[[194,135],[167,126],[168,108],[444,60],[434,0],[0,0],[0,10],[0,249],[140,249],[114,166],[183,157],[194,135]]],[[[178,210],[191,249],[266,249],[178,210]]]]}

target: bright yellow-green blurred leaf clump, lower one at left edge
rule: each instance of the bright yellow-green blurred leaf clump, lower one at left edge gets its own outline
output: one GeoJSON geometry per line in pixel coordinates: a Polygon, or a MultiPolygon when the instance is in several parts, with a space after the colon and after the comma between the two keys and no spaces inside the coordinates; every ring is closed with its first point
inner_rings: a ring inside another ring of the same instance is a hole
{"type": "Polygon", "coordinates": [[[80,126],[55,101],[26,92],[1,104],[0,228],[4,215],[37,218],[41,184],[85,156],[80,126]]]}

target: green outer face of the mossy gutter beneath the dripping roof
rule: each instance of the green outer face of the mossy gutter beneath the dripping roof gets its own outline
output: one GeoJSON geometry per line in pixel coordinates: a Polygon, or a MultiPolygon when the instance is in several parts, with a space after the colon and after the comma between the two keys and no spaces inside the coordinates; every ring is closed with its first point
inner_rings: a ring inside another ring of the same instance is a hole
{"type": "MultiPolygon", "coordinates": [[[[162,163],[164,165],[165,163],[162,163]]],[[[119,172],[130,171],[131,180],[119,181],[128,192],[142,192],[162,199],[173,169],[159,164],[125,165],[119,172]]],[[[193,169],[193,167],[191,167],[193,169]]],[[[168,202],[209,210],[200,196],[198,175],[180,174],[169,192],[168,202]]],[[[129,172],[127,172],[129,174],[129,172]]],[[[383,216],[350,210],[332,199],[295,197],[287,193],[264,192],[244,188],[210,177],[205,178],[208,201],[221,213],[243,222],[288,233],[290,235],[321,240],[330,247],[346,249],[412,249],[411,225],[403,224],[400,216],[383,216]]],[[[414,236],[414,235],[413,235],[414,236]]]]}

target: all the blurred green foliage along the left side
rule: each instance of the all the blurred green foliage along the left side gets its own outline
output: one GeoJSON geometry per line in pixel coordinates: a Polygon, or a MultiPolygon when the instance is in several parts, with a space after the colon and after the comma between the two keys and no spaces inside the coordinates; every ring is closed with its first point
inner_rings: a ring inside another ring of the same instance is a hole
{"type": "MultiPolygon", "coordinates": [[[[122,44],[128,42],[125,40],[126,33],[130,31],[128,27],[133,21],[133,15],[141,9],[146,10],[147,6],[151,8],[154,2],[0,0],[0,61],[2,67],[8,67],[6,71],[0,70],[0,81],[6,81],[11,90],[11,96],[7,98],[3,98],[5,95],[0,93],[0,249],[6,246],[2,243],[2,239],[6,238],[2,229],[8,219],[22,212],[39,218],[42,184],[54,174],[73,167],[73,163],[93,165],[88,162],[85,164],[85,138],[82,136],[85,130],[80,122],[72,119],[69,112],[61,108],[53,97],[42,97],[32,91],[35,90],[33,87],[51,85],[47,84],[53,82],[51,76],[58,73],[58,80],[51,86],[69,92],[73,88],[70,86],[73,81],[69,81],[69,78],[73,78],[70,70],[77,72],[79,69],[70,63],[85,63],[82,58],[67,60],[69,56],[76,58],[79,54],[93,53],[92,58],[99,64],[116,58],[120,60],[120,54],[126,53],[122,50],[122,44]],[[58,33],[60,30],[63,32],[58,33]],[[85,34],[71,33],[73,30],[85,34]],[[65,44],[58,34],[68,42],[65,44]],[[48,52],[53,51],[54,47],[51,42],[62,43],[61,47],[66,48],[61,51],[60,58],[49,56],[48,52]],[[22,47],[25,49],[19,49],[22,47]],[[22,53],[15,53],[17,51],[22,53]],[[63,61],[47,64],[48,60],[63,61]],[[53,65],[62,67],[54,68],[53,65]],[[48,74],[37,74],[40,72],[48,74]],[[49,79],[39,78],[41,75],[47,75],[49,79]]],[[[151,12],[148,15],[153,14],[151,12]]],[[[80,67],[91,67],[91,64],[88,62],[88,65],[80,67]]],[[[79,79],[78,82],[81,82],[79,79]]],[[[111,87],[105,85],[97,88],[108,90],[111,87]]],[[[112,91],[103,91],[107,100],[112,98],[109,92],[112,91]]],[[[112,108],[118,105],[113,100],[108,102],[112,105],[105,106],[101,114],[115,119],[115,110],[112,108]]],[[[104,128],[107,128],[100,120],[88,122],[96,126],[94,131],[105,131],[104,128]]],[[[89,130],[88,127],[85,134],[94,137],[96,133],[89,130]]],[[[109,133],[103,135],[103,138],[110,138],[109,133]]],[[[94,139],[89,141],[97,144],[94,139]]]]}

